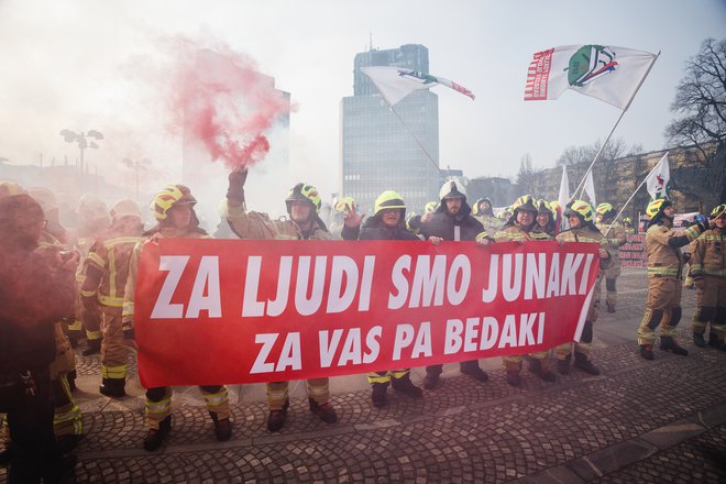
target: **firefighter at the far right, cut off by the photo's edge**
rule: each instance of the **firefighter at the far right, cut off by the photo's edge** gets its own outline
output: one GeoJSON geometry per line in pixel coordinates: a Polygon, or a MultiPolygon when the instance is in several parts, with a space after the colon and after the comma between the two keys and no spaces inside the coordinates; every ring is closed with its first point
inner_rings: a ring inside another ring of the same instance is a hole
{"type": "Polygon", "coordinates": [[[726,204],[712,210],[711,220],[715,227],[692,242],[695,246],[689,261],[696,287],[693,342],[706,345],[703,336],[711,322],[708,345],[726,351],[726,204]]]}

